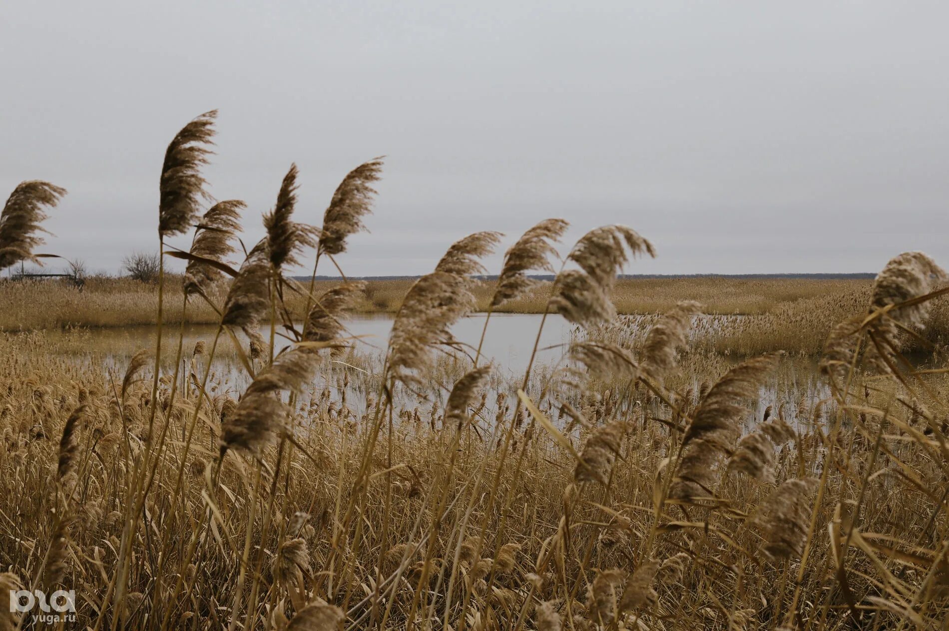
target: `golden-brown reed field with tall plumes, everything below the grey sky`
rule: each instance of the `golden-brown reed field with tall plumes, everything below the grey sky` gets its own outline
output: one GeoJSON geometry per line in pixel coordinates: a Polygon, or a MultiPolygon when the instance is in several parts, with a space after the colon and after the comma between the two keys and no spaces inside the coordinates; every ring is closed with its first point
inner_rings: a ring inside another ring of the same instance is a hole
{"type": "MultiPolygon", "coordinates": [[[[927,255],[875,281],[618,281],[645,236],[561,244],[549,219],[502,269],[477,232],[418,280],[301,282],[314,251],[314,275],[345,271],[381,160],[319,227],[291,167],[245,252],[244,204],[203,204],[213,134],[214,112],[181,129],[159,182],[183,277],[0,283],[0,584],[60,593],[0,628],[947,628],[949,288],[927,255]],[[452,337],[474,310],[572,333],[541,362],[538,330],[512,377],[452,337]],[[375,352],[360,311],[393,314],[375,352]],[[117,325],[154,347],[84,347],[117,325]]],[[[62,195],[10,195],[0,268],[35,260],[62,195]]]]}

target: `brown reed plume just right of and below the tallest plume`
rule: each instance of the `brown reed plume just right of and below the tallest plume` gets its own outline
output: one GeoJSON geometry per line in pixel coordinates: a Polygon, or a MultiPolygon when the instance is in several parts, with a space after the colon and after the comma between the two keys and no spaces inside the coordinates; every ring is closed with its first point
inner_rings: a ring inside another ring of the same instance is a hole
{"type": "MultiPolygon", "coordinates": [[[[240,230],[240,212],[247,204],[239,199],[228,199],[214,204],[198,222],[191,253],[217,263],[228,263],[234,252],[232,239],[240,230]]],[[[192,296],[206,293],[223,274],[208,261],[190,259],[184,272],[184,293],[192,296]]]]}

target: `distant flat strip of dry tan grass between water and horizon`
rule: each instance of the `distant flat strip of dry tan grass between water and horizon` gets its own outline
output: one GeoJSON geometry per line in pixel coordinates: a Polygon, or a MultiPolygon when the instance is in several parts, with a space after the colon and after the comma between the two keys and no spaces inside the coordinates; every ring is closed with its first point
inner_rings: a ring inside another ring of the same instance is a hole
{"type": "MultiPolygon", "coordinates": [[[[363,300],[356,312],[395,313],[414,279],[365,281],[363,300]]],[[[335,287],[334,281],[318,280],[316,291],[335,287]]],[[[869,297],[870,280],[765,279],[746,280],[723,276],[691,278],[619,279],[612,292],[617,311],[622,314],[664,313],[683,300],[696,300],[704,313],[722,315],[760,315],[778,313],[800,307],[814,311],[830,307],[837,313],[869,297]],[[816,307],[816,309],[815,309],[816,307]]],[[[170,283],[172,295],[178,281],[170,283]]],[[[221,291],[221,288],[218,288],[221,291]]],[[[493,310],[505,313],[543,313],[549,290],[537,288],[493,310]]],[[[476,310],[487,311],[494,294],[494,284],[486,282],[475,288],[476,310]]],[[[65,326],[121,326],[155,324],[158,288],[129,279],[93,277],[81,292],[68,282],[0,281],[0,298],[12,311],[0,313],[0,329],[59,328],[65,326]],[[110,303],[111,299],[114,300],[110,303]],[[134,300],[130,298],[134,296],[134,300]],[[134,303],[139,302],[138,309],[134,303]],[[36,308],[42,305],[44,308],[36,308]],[[103,314],[107,310],[111,314],[103,314]],[[126,318],[126,319],[123,319],[126,318]]],[[[172,303],[178,301],[173,300],[172,303]]],[[[288,297],[294,312],[302,311],[304,301],[288,297]],[[300,304],[297,304],[300,303],[300,304]]],[[[190,313],[192,323],[216,322],[211,309],[190,313]]],[[[171,311],[169,322],[180,317],[171,311]]]]}

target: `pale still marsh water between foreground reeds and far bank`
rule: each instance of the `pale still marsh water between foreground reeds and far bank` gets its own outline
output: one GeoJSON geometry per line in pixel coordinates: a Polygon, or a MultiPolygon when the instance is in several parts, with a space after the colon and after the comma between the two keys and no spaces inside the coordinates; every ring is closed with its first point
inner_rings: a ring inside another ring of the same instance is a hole
{"type": "MultiPolygon", "coordinates": [[[[470,369],[472,364],[469,358],[474,358],[485,320],[485,314],[478,313],[460,320],[452,328],[452,333],[459,343],[458,348],[449,351],[450,354],[437,354],[439,361],[444,362],[436,371],[440,374],[437,381],[441,383],[441,389],[450,389],[454,380],[470,369]],[[442,368],[444,371],[439,373],[442,368]]],[[[535,341],[538,342],[538,352],[533,364],[535,367],[533,376],[537,377],[538,373],[549,375],[549,370],[545,370],[545,366],[549,367],[560,362],[568,343],[584,337],[583,332],[576,326],[570,325],[561,316],[548,315],[544,320],[538,340],[537,332],[541,320],[542,316],[539,314],[497,313],[488,319],[480,363],[485,361],[493,363],[497,387],[507,388],[513,392],[520,385],[535,341]]],[[[352,341],[353,350],[324,364],[321,369],[323,376],[317,378],[318,389],[329,387],[334,392],[333,399],[337,399],[342,390],[354,396],[351,400],[358,400],[367,394],[363,391],[366,385],[365,380],[344,382],[345,370],[339,370],[339,368],[349,366],[364,374],[379,375],[392,323],[392,317],[386,314],[355,316],[346,321],[349,334],[357,338],[352,341]]],[[[648,328],[646,326],[648,323],[644,323],[637,316],[624,316],[619,324],[624,335],[632,334],[634,337],[642,335],[648,328]]],[[[705,323],[705,325],[708,330],[710,323],[705,323]]],[[[718,326],[720,322],[712,321],[711,325],[718,326]]],[[[204,342],[207,351],[210,351],[216,330],[216,325],[166,326],[162,334],[163,371],[166,374],[174,371],[179,331],[183,332],[182,369],[179,374],[182,379],[185,379],[184,375],[192,373],[188,364],[192,362],[195,343],[204,342]]],[[[269,332],[269,330],[261,331],[265,337],[269,332]]],[[[154,325],[45,331],[38,334],[49,338],[48,342],[54,342],[53,347],[57,348],[58,354],[66,362],[104,367],[111,374],[112,379],[118,381],[121,381],[132,355],[140,349],[153,351],[156,343],[154,325]]],[[[245,353],[247,352],[248,339],[243,333],[238,333],[235,340],[230,339],[226,334],[222,335],[214,352],[209,389],[217,393],[228,392],[236,398],[247,387],[250,377],[235,350],[234,341],[244,349],[245,353]]],[[[282,337],[277,337],[276,342],[278,349],[289,344],[289,341],[282,337]]],[[[639,345],[628,337],[625,338],[623,345],[629,343],[639,345]]],[[[203,373],[198,366],[204,365],[207,357],[208,352],[195,360],[195,369],[193,369],[195,375],[203,373]]],[[[693,391],[697,391],[702,382],[715,380],[716,375],[724,374],[730,366],[735,362],[740,362],[741,359],[743,358],[737,355],[699,353],[693,360],[685,362],[682,366],[687,373],[687,385],[691,383],[693,391]]],[[[259,361],[254,362],[254,369],[259,366],[259,361]]],[[[765,407],[768,405],[776,407],[782,400],[807,400],[812,405],[815,401],[828,397],[827,385],[818,374],[815,357],[789,356],[781,362],[775,377],[776,380],[759,392],[756,418],[760,418],[765,407]]]]}

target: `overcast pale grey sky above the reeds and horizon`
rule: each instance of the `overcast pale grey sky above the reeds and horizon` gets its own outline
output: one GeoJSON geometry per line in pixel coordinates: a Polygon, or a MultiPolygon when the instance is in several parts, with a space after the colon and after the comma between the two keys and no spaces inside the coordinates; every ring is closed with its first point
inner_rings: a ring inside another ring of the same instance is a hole
{"type": "Polygon", "coordinates": [[[207,176],[251,240],[291,162],[319,224],[388,156],[353,275],[549,216],[571,241],[642,232],[659,258],[629,273],[946,265],[947,23],[942,2],[8,0],[0,190],[65,186],[43,250],[114,271],[157,248],[168,141],[218,108],[207,176]]]}

